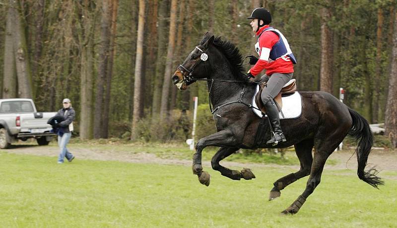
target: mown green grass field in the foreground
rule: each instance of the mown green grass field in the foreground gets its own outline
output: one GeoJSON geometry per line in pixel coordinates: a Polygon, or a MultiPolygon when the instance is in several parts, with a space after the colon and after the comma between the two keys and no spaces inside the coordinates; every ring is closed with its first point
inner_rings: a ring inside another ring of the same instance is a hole
{"type": "Polygon", "coordinates": [[[353,170],[325,170],[300,212],[283,216],[307,178],[277,200],[267,201],[268,191],[295,170],[255,168],[251,181],[204,170],[211,174],[209,187],[199,184],[190,166],[79,159],[60,165],[56,157],[0,152],[0,227],[397,226],[393,179],[377,190],[353,170]]]}

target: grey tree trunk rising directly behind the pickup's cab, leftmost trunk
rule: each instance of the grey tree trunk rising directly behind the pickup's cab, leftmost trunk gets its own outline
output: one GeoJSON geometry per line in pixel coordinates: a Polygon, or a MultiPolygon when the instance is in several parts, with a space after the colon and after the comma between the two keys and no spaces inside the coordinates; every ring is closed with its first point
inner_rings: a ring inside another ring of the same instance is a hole
{"type": "Polygon", "coordinates": [[[5,45],[4,45],[4,76],[2,87],[2,98],[16,98],[16,72],[15,72],[15,58],[12,30],[13,14],[15,9],[8,8],[7,21],[5,27],[5,45]]]}

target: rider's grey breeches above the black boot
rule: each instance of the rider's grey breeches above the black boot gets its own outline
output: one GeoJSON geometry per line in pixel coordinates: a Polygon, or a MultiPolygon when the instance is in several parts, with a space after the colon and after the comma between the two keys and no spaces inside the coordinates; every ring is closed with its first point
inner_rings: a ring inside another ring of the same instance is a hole
{"type": "Polygon", "coordinates": [[[262,76],[259,81],[267,82],[267,87],[265,87],[261,94],[262,102],[265,104],[270,98],[273,99],[275,96],[277,96],[277,94],[281,91],[282,86],[291,80],[293,74],[294,73],[274,73],[270,77],[267,75],[262,76]]]}

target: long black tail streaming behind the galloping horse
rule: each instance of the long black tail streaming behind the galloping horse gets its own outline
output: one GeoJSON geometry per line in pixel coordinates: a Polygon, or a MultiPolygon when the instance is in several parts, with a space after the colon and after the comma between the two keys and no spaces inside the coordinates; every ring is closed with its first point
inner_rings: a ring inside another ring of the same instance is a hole
{"type": "Polygon", "coordinates": [[[379,172],[374,167],[370,168],[368,171],[364,171],[364,168],[367,165],[369,152],[371,152],[372,145],[374,144],[374,135],[372,134],[371,128],[364,117],[350,108],[349,113],[353,120],[353,125],[351,126],[348,134],[355,139],[358,178],[373,187],[378,188],[378,185],[384,184],[381,178],[376,176],[379,172]]]}

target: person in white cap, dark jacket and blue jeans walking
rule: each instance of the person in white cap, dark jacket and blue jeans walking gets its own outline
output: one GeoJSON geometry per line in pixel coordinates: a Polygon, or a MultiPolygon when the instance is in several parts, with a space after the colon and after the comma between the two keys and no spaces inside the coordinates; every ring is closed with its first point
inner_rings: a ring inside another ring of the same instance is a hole
{"type": "Polygon", "coordinates": [[[60,153],[58,157],[58,163],[64,163],[64,157],[70,162],[74,159],[73,154],[71,154],[66,145],[70,140],[71,132],[73,131],[73,120],[76,116],[74,109],[71,107],[70,100],[65,98],[62,101],[64,107],[61,108],[57,115],[63,116],[65,118],[64,121],[55,124],[54,127],[59,128],[58,130],[58,146],[60,148],[60,153]]]}

